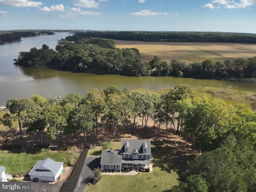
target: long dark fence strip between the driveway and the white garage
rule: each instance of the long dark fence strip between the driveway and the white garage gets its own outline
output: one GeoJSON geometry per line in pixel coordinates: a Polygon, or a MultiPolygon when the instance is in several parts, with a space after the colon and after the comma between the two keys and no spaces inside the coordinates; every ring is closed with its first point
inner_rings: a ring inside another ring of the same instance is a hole
{"type": "Polygon", "coordinates": [[[74,165],[68,178],[66,178],[66,182],[64,182],[59,192],[74,192],[89,148],[90,146],[84,146],[84,149],[82,150],[76,164],[74,165]]]}

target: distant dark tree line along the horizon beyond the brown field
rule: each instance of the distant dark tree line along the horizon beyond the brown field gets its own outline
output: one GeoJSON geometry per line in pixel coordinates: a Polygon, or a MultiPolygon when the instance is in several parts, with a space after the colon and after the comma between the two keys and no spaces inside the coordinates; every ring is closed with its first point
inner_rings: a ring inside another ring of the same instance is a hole
{"type": "MultiPolygon", "coordinates": [[[[76,32],[78,36],[70,37],[101,37],[108,39],[149,41],[149,42],[223,42],[256,44],[256,34],[224,33],[224,32],[150,32],[150,31],[88,31],[76,32]]],[[[68,40],[68,39],[67,39],[68,40]]]]}

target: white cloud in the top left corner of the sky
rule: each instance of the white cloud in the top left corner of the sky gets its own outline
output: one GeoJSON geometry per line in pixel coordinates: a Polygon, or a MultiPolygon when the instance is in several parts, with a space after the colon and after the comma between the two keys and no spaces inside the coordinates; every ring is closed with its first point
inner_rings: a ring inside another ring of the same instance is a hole
{"type": "Polygon", "coordinates": [[[30,0],[0,0],[0,4],[9,7],[38,7],[43,3],[30,0]]]}

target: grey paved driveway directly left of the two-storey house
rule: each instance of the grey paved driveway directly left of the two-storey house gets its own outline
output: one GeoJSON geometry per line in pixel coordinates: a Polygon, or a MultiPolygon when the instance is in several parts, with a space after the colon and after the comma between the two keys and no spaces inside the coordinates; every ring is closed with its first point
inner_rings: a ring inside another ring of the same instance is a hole
{"type": "Polygon", "coordinates": [[[86,157],[74,192],[83,192],[93,176],[92,170],[100,166],[100,157],[86,157]]]}

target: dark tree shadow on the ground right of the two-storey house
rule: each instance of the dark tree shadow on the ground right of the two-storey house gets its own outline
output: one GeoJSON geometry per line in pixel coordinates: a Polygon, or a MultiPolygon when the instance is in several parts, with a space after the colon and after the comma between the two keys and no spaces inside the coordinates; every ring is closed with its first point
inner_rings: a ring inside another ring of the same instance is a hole
{"type": "Polygon", "coordinates": [[[185,143],[179,135],[173,134],[174,130],[164,130],[152,126],[136,130],[139,139],[153,140],[151,150],[154,166],[171,173],[175,171],[179,176],[187,170],[188,161],[193,160],[195,152],[191,144],[185,143]]]}

